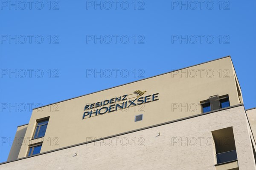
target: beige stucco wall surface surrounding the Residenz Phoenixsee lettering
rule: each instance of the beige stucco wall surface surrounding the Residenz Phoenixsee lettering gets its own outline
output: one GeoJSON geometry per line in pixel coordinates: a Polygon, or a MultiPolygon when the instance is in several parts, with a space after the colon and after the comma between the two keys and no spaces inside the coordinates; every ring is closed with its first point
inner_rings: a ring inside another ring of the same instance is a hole
{"type": "MultiPolygon", "coordinates": [[[[200,101],[204,101],[212,95],[228,94],[231,106],[240,104],[234,74],[231,58],[221,58],[176,72],[34,109],[25,138],[32,137],[36,120],[47,116],[50,118],[41,152],[79,144],[84,142],[87,137],[106,137],[197,115],[201,113],[200,101]],[[195,71],[197,76],[193,74],[195,71]],[[82,119],[86,104],[125,94],[136,98],[134,90],[137,89],[146,90],[145,95],[159,93],[159,100],[126,110],[82,119]],[[134,116],[142,113],[143,121],[134,123],[134,116]],[[58,146],[52,146],[56,140],[58,140],[58,146]]],[[[21,147],[19,158],[26,156],[28,144],[29,142],[21,147]]]]}

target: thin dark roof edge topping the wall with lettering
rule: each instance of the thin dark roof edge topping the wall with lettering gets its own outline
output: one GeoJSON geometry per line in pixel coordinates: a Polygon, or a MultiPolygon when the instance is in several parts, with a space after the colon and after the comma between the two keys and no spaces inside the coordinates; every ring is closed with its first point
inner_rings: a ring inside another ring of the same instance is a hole
{"type": "MultiPolygon", "coordinates": [[[[230,57],[230,59],[231,59],[231,56],[230,56],[230,55],[227,55],[227,56],[225,56],[225,57],[217,58],[217,59],[211,60],[211,61],[206,61],[206,62],[204,62],[204,63],[209,63],[209,62],[212,62],[212,61],[217,61],[217,60],[221,60],[221,59],[228,58],[228,57],[230,57]]],[[[232,62],[232,60],[231,60],[231,62],[232,62]]],[[[201,64],[204,64],[204,63],[199,63],[199,64],[195,64],[195,65],[192,65],[192,66],[187,66],[187,67],[184,67],[184,68],[182,68],[182,69],[186,69],[186,68],[193,67],[193,66],[198,66],[198,65],[201,65],[201,64]]],[[[232,64],[233,64],[233,63],[232,63],[232,64]]],[[[171,71],[171,72],[175,72],[175,71],[182,70],[182,69],[176,69],[176,70],[173,70],[173,71],[171,71]]],[[[171,72],[166,72],[166,73],[163,73],[163,74],[160,74],[160,75],[165,75],[165,74],[168,74],[168,73],[171,73],[171,72]]],[[[131,83],[135,83],[135,82],[138,82],[138,81],[143,81],[143,80],[146,80],[146,79],[149,79],[149,78],[154,78],[154,77],[157,77],[157,76],[160,76],[160,75],[154,75],[154,76],[151,76],[151,77],[148,77],[148,78],[143,78],[143,79],[141,79],[141,80],[132,81],[132,82],[130,82],[130,83],[121,84],[121,85],[118,85],[118,86],[113,86],[113,87],[110,87],[110,88],[108,88],[108,89],[113,89],[113,88],[116,88],[116,87],[119,87],[119,86],[124,86],[124,85],[131,84],[131,83]]],[[[105,90],[108,90],[108,89],[102,89],[102,90],[99,90],[99,91],[96,91],[96,92],[91,92],[91,93],[88,93],[88,94],[86,94],[86,95],[91,95],[91,94],[93,94],[93,93],[102,92],[102,91],[105,91],[105,90]]],[[[66,100],[63,100],[63,101],[58,101],[58,102],[55,102],[55,103],[52,103],[52,104],[57,104],[57,103],[61,103],[61,102],[68,101],[68,100],[72,100],[72,99],[75,99],[75,98],[80,98],[80,97],[83,97],[83,96],[86,96],[86,95],[80,95],[80,96],[77,96],[77,97],[74,97],[74,98],[69,98],[69,99],[66,99],[66,100]]],[[[44,106],[41,106],[41,107],[46,107],[46,106],[49,106],[49,105],[52,105],[52,104],[47,104],[47,105],[44,105],[44,106]]],[[[34,108],[34,109],[39,109],[39,108],[41,108],[41,107],[36,107],[36,108],[34,108]]],[[[33,110],[34,110],[34,109],[33,109],[33,110]]]]}

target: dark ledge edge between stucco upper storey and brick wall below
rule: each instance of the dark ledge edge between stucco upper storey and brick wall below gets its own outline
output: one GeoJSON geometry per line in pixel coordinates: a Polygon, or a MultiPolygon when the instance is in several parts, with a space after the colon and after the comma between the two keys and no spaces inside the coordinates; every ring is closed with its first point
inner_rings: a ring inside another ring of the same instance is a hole
{"type": "Polygon", "coordinates": [[[111,136],[107,136],[107,137],[104,137],[104,138],[95,139],[95,140],[92,140],[92,141],[82,142],[80,144],[74,144],[74,145],[71,145],[71,146],[62,147],[62,148],[55,149],[55,150],[50,150],[50,151],[47,151],[47,152],[44,152],[44,153],[38,153],[38,154],[35,154],[35,155],[32,155],[32,156],[17,158],[17,159],[12,160],[12,161],[2,162],[2,163],[0,163],[0,165],[1,164],[7,164],[7,163],[10,163],[10,162],[14,162],[14,161],[19,161],[19,160],[26,159],[26,158],[31,158],[31,157],[34,157],[34,156],[40,156],[40,155],[55,152],[55,151],[58,151],[58,150],[64,150],[64,149],[68,149],[68,148],[71,148],[71,147],[76,147],[76,146],[83,145],[83,144],[89,144],[89,143],[104,140],[104,139],[107,139],[107,138],[113,138],[113,137],[116,137],[116,136],[125,135],[125,134],[128,134],[128,133],[133,133],[133,132],[137,132],[137,131],[140,131],[140,130],[150,129],[150,128],[153,128],[153,127],[158,127],[158,126],[162,126],[162,125],[165,125],[165,124],[170,124],[170,123],[174,123],[174,122],[177,122],[177,121],[183,121],[183,120],[186,120],[186,119],[189,119],[189,118],[195,118],[195,117],[198,117],[198,116],[208,115],[208,114],[211,114],[213,112],[219,112],[219,111],[222,111],[222,110],[231,109],[231,108],[240,107],[240,106],[244,106],[244,104],[237,104],[237,105],[234,105],[234,106],[225,107],[225,108],[218,109],[218,110],[212,110],[210,112],[200,113],[200,114],[197,114],[197,115],[192,115],[192,116],[188,116],[188,117],[185,117],[185,118],[180,118],[180,119],[176,119],[176,120],[173,120],[173,121],[164,122],[164,123],[161,123],[161,124],[155,124],[155,125],[151,125],[151,126],[148,126],[148,127],[143,127],[143,128],[137,129],[137,130],[131,130],[131,131],[128,131],[128,132],[119,133],[119,134],[116,134],[116,135],[111,135],[111,136]]]}

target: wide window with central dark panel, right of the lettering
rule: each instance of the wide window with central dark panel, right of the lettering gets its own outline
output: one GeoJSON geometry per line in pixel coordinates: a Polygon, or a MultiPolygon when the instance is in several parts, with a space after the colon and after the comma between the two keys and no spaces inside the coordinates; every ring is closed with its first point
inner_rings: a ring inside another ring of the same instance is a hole
{"type": "Polygon", "coordinates": [[[202,113],[217,110],[225,107],[230,107],[228,95],[209,97],[208,100],[201,102],[202,113]]]}

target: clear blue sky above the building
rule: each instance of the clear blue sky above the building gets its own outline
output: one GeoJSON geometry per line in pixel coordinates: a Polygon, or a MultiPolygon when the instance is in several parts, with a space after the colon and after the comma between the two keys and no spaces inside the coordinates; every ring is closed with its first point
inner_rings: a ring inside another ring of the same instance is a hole
{"type": "Polygon", "coordinates": [[[29,122],[30,107],[227,55],[245,108],[256,106],[254,0],[0,2],[0,162],[12,144],[3,138],[29,122]]]}

